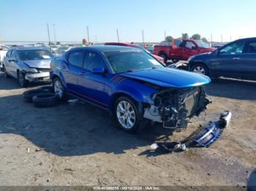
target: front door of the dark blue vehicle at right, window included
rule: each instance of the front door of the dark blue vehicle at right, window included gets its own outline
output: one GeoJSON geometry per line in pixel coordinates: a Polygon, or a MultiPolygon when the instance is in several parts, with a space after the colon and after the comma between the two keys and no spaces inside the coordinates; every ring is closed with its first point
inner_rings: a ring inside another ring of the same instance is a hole
{"type": "Polygon", "coordinates": [[[220,48],[216,58],[211,61],[211,72],[222,77],[243,77],[244,41],[231,42],[220,48]]]}

